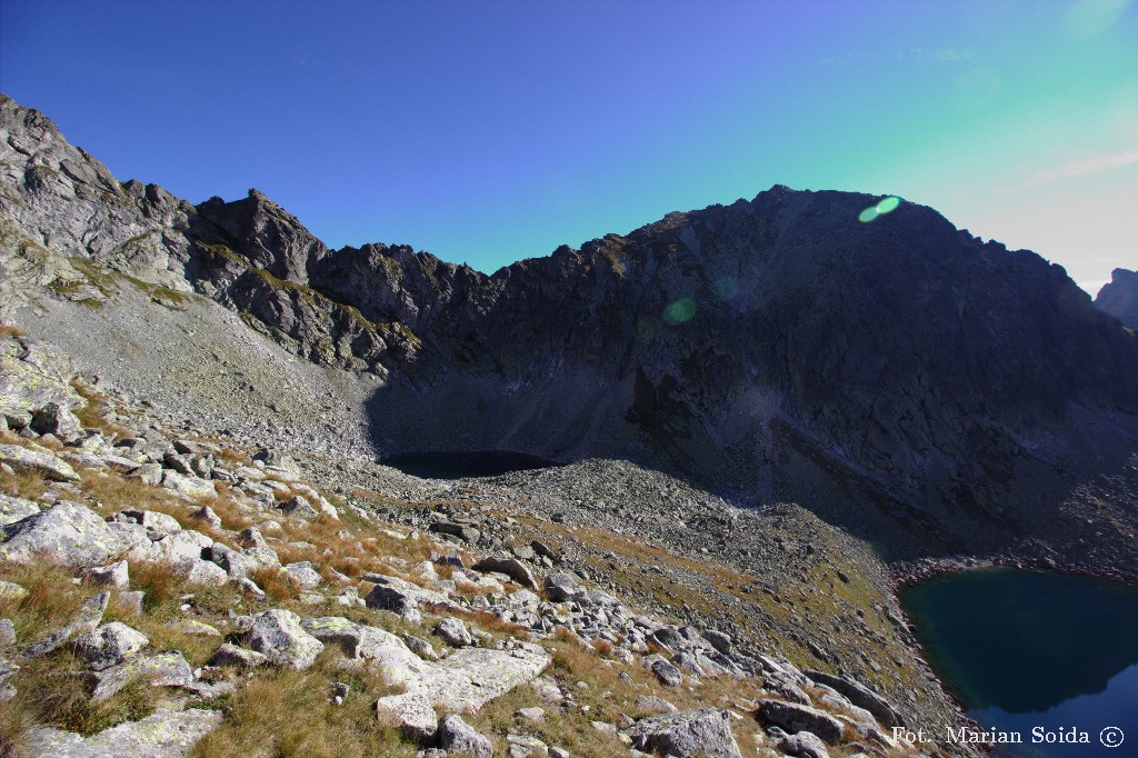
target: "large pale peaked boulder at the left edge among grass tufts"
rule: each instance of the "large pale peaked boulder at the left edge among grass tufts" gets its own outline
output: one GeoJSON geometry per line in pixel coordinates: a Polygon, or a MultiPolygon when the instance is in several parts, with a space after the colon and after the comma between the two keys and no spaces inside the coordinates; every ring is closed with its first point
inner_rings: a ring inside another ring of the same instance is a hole
{"type": "Polygon", "coordinates": [[[0,560],[31,563],[47,558],[65,566],[97,566],[116,558],[122,543],[99,516],[77,503],[51,508],[9,524],[0,560]]]}

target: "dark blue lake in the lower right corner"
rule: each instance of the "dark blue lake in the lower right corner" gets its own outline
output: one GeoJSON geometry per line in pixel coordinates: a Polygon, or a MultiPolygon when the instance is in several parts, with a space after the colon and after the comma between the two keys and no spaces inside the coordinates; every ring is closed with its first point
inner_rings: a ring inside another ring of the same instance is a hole
{"type": "Polygon", "coordinates": [[[1138,588],[1015,569],[907,587],[929,664],[986,728],[1023,744],[997,756],[1138,756],[1138,588]],[[1100,738],[1122,744],[1110,749],[1100,738]],[[1033,730],[1044,741],[1033,742],[1033,730]],[[1086,733],[1089,744],[1062,742],[1086,733]],[[1050,734],[1055,741],[1046,741],[1050,734]],[[1061,736],[1062,735],[1062,736],[1061,736]]]}

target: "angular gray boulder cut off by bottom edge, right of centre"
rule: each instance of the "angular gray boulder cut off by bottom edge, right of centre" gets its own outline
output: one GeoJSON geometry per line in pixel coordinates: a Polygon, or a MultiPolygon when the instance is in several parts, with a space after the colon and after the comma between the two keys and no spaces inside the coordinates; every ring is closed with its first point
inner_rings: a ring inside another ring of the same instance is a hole
{"type": "Polygon", "coordinates": [[[677,758],[742,758],[731,714],[715,708],[644,718],[628,734],[637,750],[677,758]]]}

